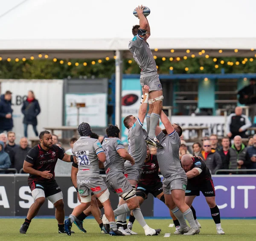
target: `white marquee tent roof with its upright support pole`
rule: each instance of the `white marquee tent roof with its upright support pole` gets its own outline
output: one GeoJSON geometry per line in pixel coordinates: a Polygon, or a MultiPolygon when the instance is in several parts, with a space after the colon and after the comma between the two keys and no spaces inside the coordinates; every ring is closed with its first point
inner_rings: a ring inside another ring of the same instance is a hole
{"type": "MultiPolygon", "coordinates": [[[[186,49],[188,56],[204,49],[215,57],[254,57],[255,0],[0,0],[0,57],[96,59],[116,53],[120,89],[120,60],[131,57],[131,27],[138,23],[132,11],[139,4],[151,9],[148,43],[159,57],[184,56],[186,49]]],[[[120,116],[120,93],[116,98],[120,116]]]]}

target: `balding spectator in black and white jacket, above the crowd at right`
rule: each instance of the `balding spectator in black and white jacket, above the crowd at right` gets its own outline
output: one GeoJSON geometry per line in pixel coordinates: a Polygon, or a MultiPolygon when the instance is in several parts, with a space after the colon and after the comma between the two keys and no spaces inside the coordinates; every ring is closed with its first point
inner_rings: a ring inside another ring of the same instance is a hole
{"type": "Polygon", "coordinates": [[[242,114],[242,111],[242,108],[237,106],[235,113],[227,117],[227,136],[230,137],[230,139],[233,139],[235,136],[247,138],[245,132],[252,124],[248,117],[242,114]]]}

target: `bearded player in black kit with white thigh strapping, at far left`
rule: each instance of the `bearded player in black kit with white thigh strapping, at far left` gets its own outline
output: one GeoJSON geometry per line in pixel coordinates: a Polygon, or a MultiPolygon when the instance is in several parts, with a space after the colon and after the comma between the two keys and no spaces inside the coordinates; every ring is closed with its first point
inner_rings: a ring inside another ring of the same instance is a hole
{"type": "Polygon", "coordinates": [[[23,171],[29,173],[28,183],[34,203],[29,208],[25,222],[20,227],[20,233],[25,234],[40,207],[47,198],[55,207],[55,218],[58,221],[58,232],[64,230],[64,202],[61,188],[55,181],[54,168],[58,159],[64,162],[73,162],[73,156],[52,145],[52,134],[44,130],[39,135],[40,144],[34,146],[27,153],[23,164],[23,171]]]}

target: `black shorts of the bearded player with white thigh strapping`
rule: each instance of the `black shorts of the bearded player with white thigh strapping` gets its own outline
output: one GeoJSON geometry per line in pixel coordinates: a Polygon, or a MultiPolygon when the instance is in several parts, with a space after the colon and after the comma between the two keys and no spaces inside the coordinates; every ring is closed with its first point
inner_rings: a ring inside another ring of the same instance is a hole
{"type": "Polygon", "coordinates": [[[29,180],[28,183],[29,183],[29,188],[31,192],[35,188],[42,189],[44,190],[44,195],[46,198],[61,192],[61,188],[59,187],[58,183],[55,180],[50,182],[40,182],[36,180],[29,180]]]}

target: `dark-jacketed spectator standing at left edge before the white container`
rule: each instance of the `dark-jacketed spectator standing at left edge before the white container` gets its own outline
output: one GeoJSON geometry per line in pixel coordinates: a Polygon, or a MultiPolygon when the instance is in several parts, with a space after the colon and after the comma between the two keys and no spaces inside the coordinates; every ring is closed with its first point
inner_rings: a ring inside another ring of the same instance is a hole
{"type": "Polygon", "coordinates": [[[12,92],[6,91],[0,96],[0,133],[13,128],[12,121],[12,92]]]}

